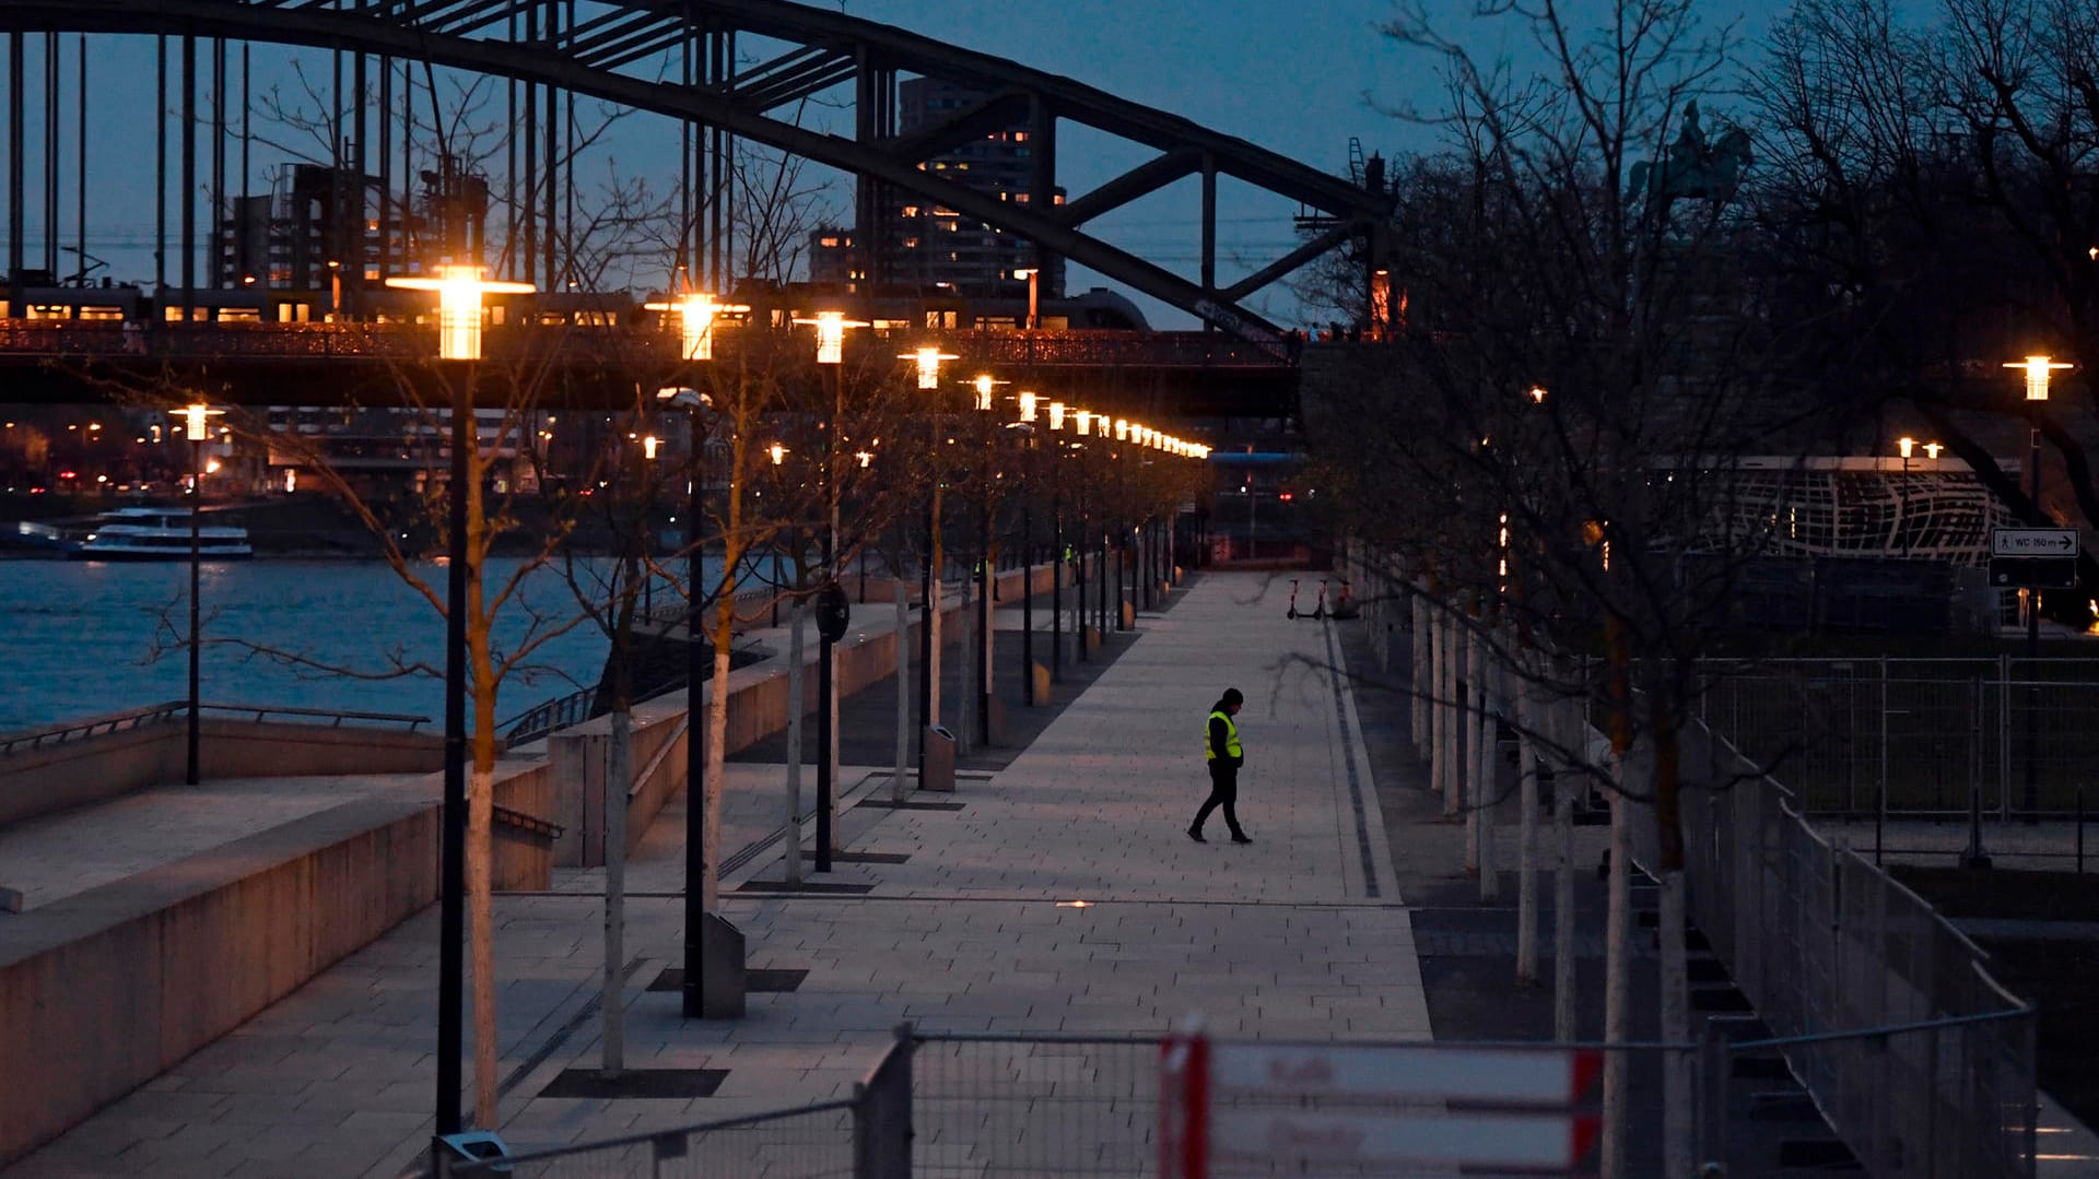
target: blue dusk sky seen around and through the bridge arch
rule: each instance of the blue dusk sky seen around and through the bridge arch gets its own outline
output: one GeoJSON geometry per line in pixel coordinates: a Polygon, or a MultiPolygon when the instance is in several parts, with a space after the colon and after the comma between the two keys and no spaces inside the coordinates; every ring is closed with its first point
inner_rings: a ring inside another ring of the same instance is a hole
{"type": "MultiPolygon", "coordinates": [[[[1394,105],[1415,101],[1436,105],[1438,86],[1434,61],[1394,44],[1377,31],[1392,15],[1387,0],[1320,0],[1312,4],[1278,4],[1274,0],[1066,0],[1056,6],[987,6],[980,0],[844,0],[848,15],[896,23],[917,34],[940,36],[959,46],[1016,59],[1024,65],[1064,73],[1112,94],[1186,115],[1215,130],[1280,151],[1327,172],[1348,168],[1350,138],[1360,138],[1366,153],[1404,153],[1429,147],[1429,132],[1379,111],[1373,103],[1394,105]]],[[[1713,4],[1709,19],[1723,19],[1746,4],[1713,4]]],[[[1461,27],[1469,2],[1453,2],[1453,27],[1461,27]]],[[[1761,29],[1763,17],[1757,17],[1761,29]]],[[[1505,29],[1505,25],[1503,25],[1505,29]]],[[[1501,34],[1505,36],[1505,31],[1501,34]]],[[[61,78],[67,99],[61,105],[61,241],[71,245],[73,197],[73,38],[65,38],[61,78]]],[[[1499,44],[1480,36],[1480,46],[1499,44]]],[[[40,38],[29,46],[29,94],[40,90],[40,38]]],[[[258,92],[267,78],[288,78],[288,50],[256,46],[258,92]],[[267,65],[273,63],[273,65],[267,65]]],[[[325,55],[306,52],[321,76],[325,55]]],[[[149,117],[120,117],[115,107],[151,111],[153,57],[143,38],[90,40],[90,212],[88,252],[105,258],[120,281],[151,279],[153,197],[149,172],[139,164],[153,153],[149,117]]],[[[233,103],[239,103],[235,88],[233,103]]],[[[663,145],[661,120],[630,120],[609,138],[605,159],[586,162],[579,174],[602,174],[611,164],[621,172],[659,172],[663,145]]],[[[40,262],[42,203],[38,193],[40,111],[29,111],[31,201],[27,208],[31,264],[40,262]]],[[[1148,153],[1106,136],[1064,124],[1058,180],[1070,193],[1083,193],[1117,172],[1148,159],[1148,153]]],[[[199,151],[202,155],[202,151],[199,151]]],[[[264,166],[281,153],[256,147],[254,191],[260,191],[264,166]]],[[[1194,277],[1196,273],[1196,191],[1188,178],[1163,193],[1100,218],[1089,229],[1117,245],[1133,250],[1152,262],[1194,277]]],[[[831,206],[840,216],[850,210],[850,189],[844,178],[831,189],[831,206]]],[[[1257,269],[1293,245],[1293,203],[1234,187],[1220,189],[1220,277],[1230,279],[1257,269]]],[[[71,271],[73,258],[61,258],[71,271]]],[[[172,277],[172,266],[170,266],[172,277]]],[[[646,285],[649,277],[638,275],[646,285]]],[[[1070,285],[1083,290],[1100,279],[1073,271],[1070,285]]],[[[1297,325],[1299,313],[1289,296],[1276,292],[1255,300],[1274,319],[1297,325]]],[[[1161,325],[1188,325],[1188,317],[1146,304],[1161,325]]]]}

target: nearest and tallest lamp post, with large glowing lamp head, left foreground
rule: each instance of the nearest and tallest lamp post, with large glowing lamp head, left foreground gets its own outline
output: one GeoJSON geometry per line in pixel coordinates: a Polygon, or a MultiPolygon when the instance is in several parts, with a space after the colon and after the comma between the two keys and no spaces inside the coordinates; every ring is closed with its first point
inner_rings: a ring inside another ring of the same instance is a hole
{"type": "Polygon", "coordinates": [[[466,984],[466,485],[476,447],[470,365],[481,359],[481,300],[487,294],[529,294],[531,283],[485,281],[481,266],[439,266],[437,277],[393,277],[390,287],[437,292],[437,355],[462,371],[451,382],[451,529],[445,569],[445,806],[443,879],[439,881],[437,957],[437,1135],[460,1122],[462,990],[466,984]]]}

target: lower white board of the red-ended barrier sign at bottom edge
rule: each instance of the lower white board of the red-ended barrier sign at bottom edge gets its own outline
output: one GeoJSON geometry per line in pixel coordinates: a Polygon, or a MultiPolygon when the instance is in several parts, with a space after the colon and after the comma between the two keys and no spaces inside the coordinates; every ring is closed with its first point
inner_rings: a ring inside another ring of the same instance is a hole
{"type": "Polygon", "coordinates": [[[1234,1110],[1211,1124],[1209,1148],[1222,1158],[1299,1166],[1442,1162],[1570,1171],[1595,1145],[1597,1127],[1593,1114],[1234,1110]]]}

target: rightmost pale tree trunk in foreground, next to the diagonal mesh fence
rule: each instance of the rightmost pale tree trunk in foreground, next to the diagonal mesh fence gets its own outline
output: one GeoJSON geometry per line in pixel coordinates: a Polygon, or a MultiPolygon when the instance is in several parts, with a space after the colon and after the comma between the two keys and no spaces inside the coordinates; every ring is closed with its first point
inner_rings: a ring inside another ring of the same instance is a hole
{"type": "MultiPolygon", "coordinates": [[[[1683,808],[1681,751],[1669,703],[1654,699],[1654,824],[1658,835],[1656,875],[1660,877],[1662,923],[1662,1041],[1692,1043],[1690,965],[1685,961],[1683,923],[1683,808]]],[[[1662,1166],[1669,1175],[1692,1173],[1692,1110],[1696,1080],[1688,1051],[1662,1055],[1662,1166]]]]}

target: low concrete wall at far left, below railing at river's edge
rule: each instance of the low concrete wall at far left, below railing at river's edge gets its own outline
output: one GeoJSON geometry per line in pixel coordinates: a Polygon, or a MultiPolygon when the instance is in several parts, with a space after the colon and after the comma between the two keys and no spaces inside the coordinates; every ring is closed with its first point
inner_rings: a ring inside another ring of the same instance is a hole
{"type": "MultiPolygon", "coordinates": [[[[437,732],[206,717],[197,776],[428,774],[443,768],[443,757],[445,738],[437,732]]],[[[181,783],[187,768],[183,720],[21,749],[0,757],[0,827],[181,783]]]]}

